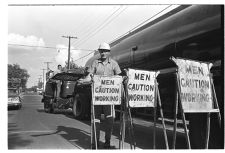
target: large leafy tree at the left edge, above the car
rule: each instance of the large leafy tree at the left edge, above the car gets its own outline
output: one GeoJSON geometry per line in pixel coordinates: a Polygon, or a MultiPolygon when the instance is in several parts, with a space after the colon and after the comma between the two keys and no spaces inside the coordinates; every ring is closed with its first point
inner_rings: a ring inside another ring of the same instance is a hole
{"type": "Polygon", "coordinates": [[[19,64],[8,64],[8,87],[25,89],[29,77],[27,70],[20,68],[19,64]]]}

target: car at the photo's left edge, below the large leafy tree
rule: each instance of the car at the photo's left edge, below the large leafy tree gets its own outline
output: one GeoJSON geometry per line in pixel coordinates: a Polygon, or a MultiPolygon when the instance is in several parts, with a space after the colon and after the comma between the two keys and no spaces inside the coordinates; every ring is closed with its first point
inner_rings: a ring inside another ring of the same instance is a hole
{"type": "Polygon", "coordinates": [[[21,98],[19,91],[16,88],[8,88],[8,108],[17,108],[22,107],[21,98]]]}

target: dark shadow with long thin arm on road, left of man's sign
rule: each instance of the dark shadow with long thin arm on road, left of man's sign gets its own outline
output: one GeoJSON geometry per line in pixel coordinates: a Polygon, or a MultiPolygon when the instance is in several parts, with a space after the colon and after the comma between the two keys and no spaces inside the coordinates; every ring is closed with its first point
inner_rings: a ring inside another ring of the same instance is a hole
{"type": "Polygon", "coordinates": [[[80,130],[77,128],[71,128],[66,126],[58,126],[56,132],[47,133],[47,134],[39,134],[39,135],[31,135],[33,137],[46,136],[58,134],[71,144],[76,147],[80,147],[81,149],[90,149],[91,146],[91,137],[90,133],[84,130],[80,130]]]}

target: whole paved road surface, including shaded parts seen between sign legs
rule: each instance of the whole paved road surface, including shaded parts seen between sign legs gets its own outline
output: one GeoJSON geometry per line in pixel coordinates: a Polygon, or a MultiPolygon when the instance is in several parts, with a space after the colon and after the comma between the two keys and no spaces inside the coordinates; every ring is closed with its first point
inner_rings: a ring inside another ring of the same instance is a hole
{"type": "MultiPolygon", "coordinates": [[[[136,149],[152,149],[153,123],[134,118],[136,149]]],[[[183,130],[178,129],[176,148],[186,148],[183,130]]],[[[172,145],[172,126],[167,126],[172,145]]],[[[41,96],[24,95],[21,110],[8,111],[9,149],[90,149],[90,121],[79,121],[71,112],[45,113],[41,96]]],[[[104,142],[103,133],[101,141],[104,142]]],[[[165,149],[163,130],[157,124],[156,148],[165,149]]],[[[119,121],[115,122],[112,145],[119,148],[119,121]]],[[[128,134],[125,149],[129,149],[128,134]]]]}

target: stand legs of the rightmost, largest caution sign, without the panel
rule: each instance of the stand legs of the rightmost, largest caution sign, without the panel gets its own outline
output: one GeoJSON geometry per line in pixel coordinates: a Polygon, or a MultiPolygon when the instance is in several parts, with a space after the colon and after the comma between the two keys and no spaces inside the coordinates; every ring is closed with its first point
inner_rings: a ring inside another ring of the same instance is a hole
{"type": "MultiPolygon", "coordinates": [[[[177,113],[178,113],[178,106],[179,109],[181,111],[181,116],[182,116],[182,120],[183,120],[183,126],[184,126],[184,131],[185,131],[185,137],[186,137],[186,141],[187,141],[187,147],[188,149],[191,149],[191,144],[190,144],[190,138],[189,138],[189,134],[188,134],[188,130],[187,130],[187,125],[186,125],[186,120],[185,120],[185,112],[181,103],[181,89],[180,89],[180,81],[179,81],[179,75],[178,72],[176,72],[176,81],[177,81],[177,86],[176,86],[176,100],[175,100],[175,111],[174,111],[174,132],[173,132],[173,144],[172,144],[172,148],[175,149],[176,146],[176,129],[177,129],[177,113]]],[[[212,88],[212,96],[213,96],[213,102],[215,105],[215,109],[207,112],[207,127],[206,127],[206,140],[205,140],[205,149],[208,149],[208,144],[209,144],[209,135],[210,135],[210,114],[211,113],[217,113],[218,114],[218,119],[219,119],[219,124],[221,125],[221,115],[220,115],[220,111],[219,111],[219,105],[217,102],[217,98],[216,98],[216,93],[215,93],[215,88],[214,88],[214,84],[213,84],[213,79],[212,76],[210,75],[210,85],[212,88]]]]}

